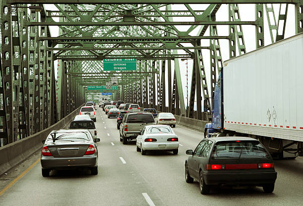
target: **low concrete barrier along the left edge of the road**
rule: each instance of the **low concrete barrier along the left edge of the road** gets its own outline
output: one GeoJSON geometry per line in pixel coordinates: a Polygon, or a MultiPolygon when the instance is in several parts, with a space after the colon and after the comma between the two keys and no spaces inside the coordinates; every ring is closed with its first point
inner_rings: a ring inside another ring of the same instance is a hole
{"type": "Polygon", "coordinates": [[[52,130],[64,128],[69,124],[79,113],[81,107],[77,108],[56,124],[53,124],[40,132],[0,147],[0,175],[13,166],[23,162],[34,152],[41,149],[43,146],[42,140],[45,140],[52,130]]]}

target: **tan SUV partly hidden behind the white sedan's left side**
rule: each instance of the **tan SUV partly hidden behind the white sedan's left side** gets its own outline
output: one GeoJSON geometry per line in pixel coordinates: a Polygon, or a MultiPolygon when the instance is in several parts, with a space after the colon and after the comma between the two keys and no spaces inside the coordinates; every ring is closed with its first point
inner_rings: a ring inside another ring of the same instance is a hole
{"type": "Polygon", "coordinates": [[[155,124],[151,113],[128,113],[124,115],[120,125],[120,141],[127,144],[128,140],[136,139],[146,125],[155,124]]]}

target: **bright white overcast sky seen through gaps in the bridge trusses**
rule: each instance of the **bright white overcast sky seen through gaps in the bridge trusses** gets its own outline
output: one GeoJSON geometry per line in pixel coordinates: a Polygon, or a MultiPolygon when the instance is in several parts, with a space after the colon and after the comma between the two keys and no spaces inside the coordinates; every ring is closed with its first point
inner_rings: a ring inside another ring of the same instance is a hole
{"type": "MultiPolygon", "coordinates": [[[[284,4],[285,5],[285,4],[284,4]]],[[[194,10],[204,10],[208,5],[207,4],[193,4],[191,5],[194,10]]],[[[239,10],[240,10],[240,17],[242,21],[254,21],[255,20],[255,13],[254,13],[254,4],[239,4],[239,10]]],[[[45,8],[47,10],[58,10],[54,5],[52,4],[45,4],[45,8]]],[[[180,10],[187,10],[185,6],[173,4],[172,9],[180,9],[180,10]]],[[[279,4],[274,4],[274,12],[276,18],[279,14],[279,4]]],[[[270,34],[269,34],[269,28],[267,24],[267,17],[265,13],[265,7],[264,7],[264,37],[265,37],[265,45],[268,45],[271,43],[270,34]]],[[[54,19],[55,21],[58,21],[57,19],[54,19]]],[[[174,17],[174,21],[194,21],[193,18],[186,18],[186,17],[174,17]]],[[[216,13],[216,20],[217,21],[228,21],[228,9],[227,4],[222,4],[220,9],[216,13]]],[[[277,19],[276,19],[277,21],[277,19]]],[[[176,26],[176,28],[179,31],[187,31],[187,29],[190,26],[176,26]]],[[[255,47],[255,27],[250,25],[242,26],[243,33],[244,33],[244,41],[246,45],[246,51],[252,51],[255,47]]],[[[228,36],[228,26],[217,26],[218,29],[218,35],[219,36],[228,36]]],[[[199,28],[194,30],[190,35],[196,36],[198,33],[199,28]]],[[[209,30],[206,31],[205,36],[209,35],[209,30]]],[[[287,15],[287,27],[285,32],[285,38],[291,37],[295,35],[295,6],[290,4],[288,7],[288,15],[287,15]]],[[[58,27],[51,26],[51,36],[56,37],[58,36],[58,27]]],[[[275,36],[275,34],[274,34],[275,36]]],[[[226,61],[229,59],[229,46],[228,46],[228,40],[220,40],[220,48],[222,53],[222,59],[223,61],[226,61]]],[[[202,46],[208,46],[209,40],[202,40],[202,46]]],[[[236,44],[237,45],[237,44],[236,44]]],[[[184,53],[184,51],[178,50],[179,53],[184,53]]],[[[204,60],[204,66],[205,66],[205,73],[207,77],[207,85],[210,87],[210,76],[209,76],[209,50],[203,49],[202,50],[203,60],[204,60]]],[[[237,50],[237,56],[238,56],[238,50],[237,50]]],[[[182,76],[182,85],[183,85],[183,93],[184,97],[187,96],[187,89],[186,89],[186,61],[179,60],[180,63],[180,70],[181,70],[181,76],[182,76]]],[[[57,74],[57,64],[55,63],[55,75],[57,74]]],[[[172,61],[172,67],[173,67],[173,61],[172,61]]],[[[188,60],[188,72],[189,72],[189,82],[188,84],[191,85],[191,77],[192,77],[192,67],[193,67],[193,61],[188,60]]],[[[166,77],[167,78],[167,77],[166,77]]],[[[172,75],[173,78],[173,75],[172,75]]],[[[166,81],[167,82],[167,81],[166,81]]],[[[166,86],[167,88],[167,86],[166,86]]],[[[167,91],[166,91],[167,92],[167,91]]],[[[210,93],[210,92],[209,92],[210,93]]],[[[190,94],[188,94],[190,95],[190,94]]],[[[168,97],[166,97],[166,102],[168,106],[168,97]]],[[[185,100],[186,102],[186,100],[185,100]]],[[[186,103],[185,103],[186,105],[186,103]]]]}

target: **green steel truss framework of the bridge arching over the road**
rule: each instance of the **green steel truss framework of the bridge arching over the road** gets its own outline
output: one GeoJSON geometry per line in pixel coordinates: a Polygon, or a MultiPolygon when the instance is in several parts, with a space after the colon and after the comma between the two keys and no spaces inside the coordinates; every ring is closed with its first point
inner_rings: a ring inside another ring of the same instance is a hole
{"type": "Polygon", "coordinates": [[[115,99],[201,120],[201,102],[208,99],[207,110],[211,110],[209,97],[223,66],[219,40],[229,42],[230,58],[244,54],[242,25],[253,25],[256,48],[262,47],[266,20],[271,41],[284,39],[289,4],[295,5],[295,22],[291,23],[295,24],[296,34],[303,32],[303,0],[184,2],[1,0],[0,146],[55,124],[81,106],[86,97],[97,95],[87,90],[87,85],[105,85],[110,77],[119,81],[115,99]],[[46,10],[45,4],[50,3],[56,10],[46,10]],[[228,5],[228,21],[216,21],[222,3],[228,5]],[[255,4],[254,19],[241,20],[241,3],[255,4]],[[278,14],[274,13],[273,3],[280,4],[278,14]],[[177,10],[172,4],[185,9],[177,10]],[[205,4],[205,9],[199,9],[198,4],[205,4]],[[191,20],[179,21],[188,18],[191,20]],[[178,30],[182,25],[188,29],[178,30]],[[219,25],[228,25],[228,36],[218,34],[219,25]],[[59,28],[59,36],[50,35],[50,26],[59,28]],[[202,40],[209,44],[203,45],[202,40]],[[202,49],[209,50],[209,58],[203,58],[202,49]],[[102,60],[117,57],[136,58],[137,71],[103,71],[102,60]],[[180,59],[193,61],[187,110],[180,59]],[[205,61],[210,62],[210,67],[204,67],[205,61]]]}

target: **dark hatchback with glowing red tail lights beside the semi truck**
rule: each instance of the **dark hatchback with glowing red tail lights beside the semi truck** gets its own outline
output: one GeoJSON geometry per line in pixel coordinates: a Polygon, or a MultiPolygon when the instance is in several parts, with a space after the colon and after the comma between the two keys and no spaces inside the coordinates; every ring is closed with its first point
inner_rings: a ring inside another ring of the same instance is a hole
{"type": "Polygon", "coordinates": [[[247,185],[263,187],[272,193],[277,172],[265,147],[250,137],[214,137],[203,139],[185,162],[185,180],[200,183],[201,194],[211,185],[247,185]]]}

